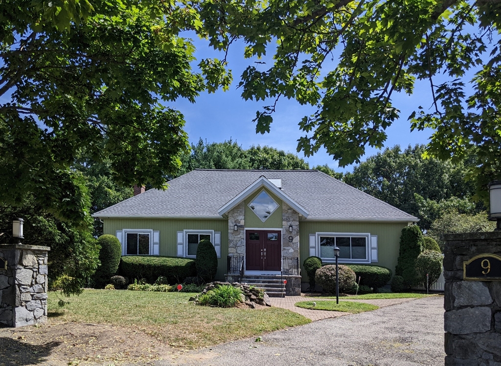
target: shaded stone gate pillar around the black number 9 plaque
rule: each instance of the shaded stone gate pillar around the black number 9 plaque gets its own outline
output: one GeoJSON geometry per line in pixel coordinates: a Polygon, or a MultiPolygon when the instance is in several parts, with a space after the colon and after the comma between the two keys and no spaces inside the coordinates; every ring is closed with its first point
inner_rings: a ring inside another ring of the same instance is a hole
{"type": "Polygon", "coordinates": [[[463,262],[501,255],[501,232],[445,235],[445,366],[501,366],[501,281],[464,281],[463,262]]]}

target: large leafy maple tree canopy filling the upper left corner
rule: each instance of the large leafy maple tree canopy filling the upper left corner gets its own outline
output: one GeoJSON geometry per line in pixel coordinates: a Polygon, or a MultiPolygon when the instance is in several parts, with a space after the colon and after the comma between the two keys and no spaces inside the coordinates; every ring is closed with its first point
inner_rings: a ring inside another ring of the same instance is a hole
{"type": "Polygon", "coordinates": [[[178,36],[200,27],[186,6],[139,0],[7,0],[0,14],[0,202],[27,194],[57,218],[89,214],[83,152],[123,186],[165,187],[188,149],[181,113],[160,102],[225,88],[217,60],[178,36]]]}

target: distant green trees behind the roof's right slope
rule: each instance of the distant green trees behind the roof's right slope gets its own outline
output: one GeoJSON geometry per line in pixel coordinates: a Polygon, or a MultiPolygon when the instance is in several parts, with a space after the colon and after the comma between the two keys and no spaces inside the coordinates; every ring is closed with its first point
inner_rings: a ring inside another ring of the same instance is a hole
{"type": "Polygon", "coordinates": [[[370,195],[419,217],[419,227],[431,222],[449,207],[475,212],[482,207],[471,201],[474,187],[465,183],[464,163],[422,157],[423,145],[387,148],[346,173],[343,180],[370,195]],[[457,198],[461,197],[461,198],[457,198]]]}

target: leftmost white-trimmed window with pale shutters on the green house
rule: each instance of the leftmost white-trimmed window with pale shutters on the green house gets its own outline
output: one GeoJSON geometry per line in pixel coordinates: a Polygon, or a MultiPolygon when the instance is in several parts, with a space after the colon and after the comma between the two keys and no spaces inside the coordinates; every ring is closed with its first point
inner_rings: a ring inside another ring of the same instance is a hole
{"type": "Polygon", "coordinates": [[[151,229],[117,230],[116,236],[122,245],[122,256],[158,256],[160,231],[151,229]]]}

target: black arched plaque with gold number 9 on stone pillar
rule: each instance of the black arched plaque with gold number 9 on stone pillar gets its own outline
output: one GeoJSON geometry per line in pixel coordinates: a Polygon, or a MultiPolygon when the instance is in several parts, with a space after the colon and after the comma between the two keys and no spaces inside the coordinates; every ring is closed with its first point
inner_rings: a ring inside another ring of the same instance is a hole
{"type": "Polygon", "coordinates": [[[501,257],[495,254],[479,254],[463,262],[463,279],[501,281],[501,257]]]}

